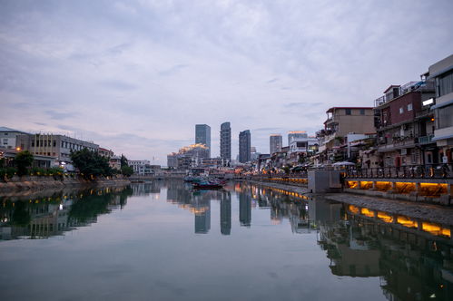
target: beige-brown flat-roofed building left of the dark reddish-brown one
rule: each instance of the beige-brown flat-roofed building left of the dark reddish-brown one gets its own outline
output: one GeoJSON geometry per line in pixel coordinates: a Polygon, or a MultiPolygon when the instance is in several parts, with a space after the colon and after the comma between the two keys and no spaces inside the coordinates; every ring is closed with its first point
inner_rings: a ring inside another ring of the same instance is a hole
{"type": "Polygon", "coordinates": [[[327,112],[324,129],[316,132],[319,141],[319,154],[316,160],[346,160],[346,152],[338,150],[347,144],[348,134],[374,134],[374,108],[333,107],[327,112]]]}

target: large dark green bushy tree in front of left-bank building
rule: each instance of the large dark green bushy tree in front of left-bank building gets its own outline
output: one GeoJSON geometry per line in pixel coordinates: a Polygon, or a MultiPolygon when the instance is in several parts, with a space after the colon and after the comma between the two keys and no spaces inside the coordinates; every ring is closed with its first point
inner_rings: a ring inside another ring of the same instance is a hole
{"type": "Polygon", "coordinates": [[[99,176],[111,176],[112,168],[109,160],[97,152],[84,149],[71,152],[71,160],[74,167],[78,169],[85,179],[92,179],[99,176]]]}

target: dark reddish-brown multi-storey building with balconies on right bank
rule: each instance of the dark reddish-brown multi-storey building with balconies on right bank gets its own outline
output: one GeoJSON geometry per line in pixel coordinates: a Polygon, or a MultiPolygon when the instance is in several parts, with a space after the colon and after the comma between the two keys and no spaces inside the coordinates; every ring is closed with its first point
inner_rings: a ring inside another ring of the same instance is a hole
{"type": "Polygon", "coordinates": [[[384,167],[438,162],[434,115],[431,104],[423,105],[433,96],[432,81],[409,82],[389,86],[375,100],[377,151],[384,167]]]}

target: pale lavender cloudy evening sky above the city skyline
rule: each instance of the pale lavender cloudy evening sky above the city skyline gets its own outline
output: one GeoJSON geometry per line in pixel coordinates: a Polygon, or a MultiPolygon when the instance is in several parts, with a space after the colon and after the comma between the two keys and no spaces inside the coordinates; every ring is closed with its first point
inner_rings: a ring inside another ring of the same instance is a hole
{"type": "Polygon", "coordinates": [[[314,135],[453,53],[453,1],[0,0],[0,126],[166,165],[195,124],[314,135]]]}

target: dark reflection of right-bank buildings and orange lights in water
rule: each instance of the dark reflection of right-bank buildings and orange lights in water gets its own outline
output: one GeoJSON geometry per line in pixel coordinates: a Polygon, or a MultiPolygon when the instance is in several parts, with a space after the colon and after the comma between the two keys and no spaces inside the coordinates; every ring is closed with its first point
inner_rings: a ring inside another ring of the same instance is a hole
{"type": "Polygon", "coordinates": [[[272,223],[287,218],[293,233],[315,231],[333,275],[379,277],[389,300],[453,300],[451,228],[281,189],[235,190],[256,191],[259,207],[270,207],[272,223]]]}

